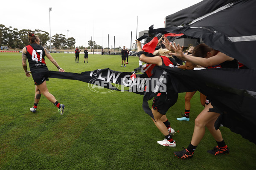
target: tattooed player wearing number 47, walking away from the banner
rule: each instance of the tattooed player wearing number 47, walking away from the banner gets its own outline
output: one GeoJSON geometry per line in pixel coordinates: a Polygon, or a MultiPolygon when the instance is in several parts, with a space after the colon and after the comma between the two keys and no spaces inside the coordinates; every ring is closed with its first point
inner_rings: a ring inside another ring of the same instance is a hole
{"type": "Polygon", "coordinates": [[[29,32],[29,42],[31,44],[27,45],[22,50],[22,65],[26,76],[30,77],[31,73],[35,82],[35,103],[34,107],[30,108],[30,111],[36,112],[41,94],[43,94],[50,102],[58,107],[62,115],[65,106],[60,104],[47,89],[46,80],[48,80],[49,70],[44,61],[44,57],[46,56],[58,68],[58,71],[64,72],[64,70],[58,65],[55,59],[52,58],[47,49],[39,45],[40,39],[37,35],[29,32]],[[29,61],[30,71],[27,70],[26,59],[29,61]]]}

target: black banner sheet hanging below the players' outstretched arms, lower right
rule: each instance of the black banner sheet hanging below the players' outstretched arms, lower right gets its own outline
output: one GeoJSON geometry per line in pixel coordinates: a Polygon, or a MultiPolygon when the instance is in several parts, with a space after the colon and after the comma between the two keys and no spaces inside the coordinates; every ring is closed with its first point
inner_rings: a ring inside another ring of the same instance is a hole
{"type": "Polygon", "coordinates": [[[196,89],[206,95],[212,105],[224,111],[215,127],[222,124],[256,144],[256,71],[232,68],[195,71],[160,67],[169,73],[175,91],[196,89]]]}

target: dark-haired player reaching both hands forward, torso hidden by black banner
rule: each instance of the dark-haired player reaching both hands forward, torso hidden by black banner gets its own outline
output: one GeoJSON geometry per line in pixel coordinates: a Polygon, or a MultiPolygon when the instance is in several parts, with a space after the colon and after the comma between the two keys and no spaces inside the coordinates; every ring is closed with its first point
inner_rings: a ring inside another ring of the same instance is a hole
{"type": "MultiPolygon", "coordinates": [[[[165,38],[166,42],[163,42],[166,45],[166,48],[175,53],[170,53],[179,57],[183,61],[190,61],[195,64],[201,65],[205,68],[218,65],[218,68],[238,68],[238,62],[236,59],[227,56],[226,54],[221,53],[220,51],[210,48],[206,44],[197,45],[193,51],[192,56],[183,54],[183,46],[170,45],[169,41],[165,38]],[[195,57],[196,56],[196,57],[195,57]]],[[[218,108],[218,106],[212,105],[209,101],[209,104],[205,105],[205,108],[195,119],[195,129],[192,136],[191,143],[189,146],[182,150],[175,152],[175,155],[180,159],[192,158],[196,147],[198,146],[201,139],[204,137],[205,126],[208,128],[209,132],[214,137],[218,146],[214,147],[212,150],[208,150],[208,153],[213,155],[218,155],[220,153],[229,153],[229,148],[225,144],[221,131],[215,129],[215,122],[223,111],[218,108]]]]}

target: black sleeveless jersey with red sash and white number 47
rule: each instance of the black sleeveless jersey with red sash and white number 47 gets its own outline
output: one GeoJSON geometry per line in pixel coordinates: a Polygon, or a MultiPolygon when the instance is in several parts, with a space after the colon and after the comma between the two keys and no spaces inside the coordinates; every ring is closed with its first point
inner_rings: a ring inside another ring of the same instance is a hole
{"type": "Polygon", "coordinates": [[[44,48],[38,44],[30,44],[26,46],[26,57],[29,61],[29,68],[31,73],[38,73],[48,71],[44,61],[44,48]]]}

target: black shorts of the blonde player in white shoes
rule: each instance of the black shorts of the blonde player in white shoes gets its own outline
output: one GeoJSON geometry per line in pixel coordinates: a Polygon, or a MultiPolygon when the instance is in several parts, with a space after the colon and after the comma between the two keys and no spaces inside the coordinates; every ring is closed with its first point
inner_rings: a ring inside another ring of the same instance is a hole
{"type": "Polygon", "coordinates": [[[165,115],[169,108],[171,108],[178,99],[178,94],[173,93],[158,93],[153,100],[152,108],[159,113],[165,115]]]}

